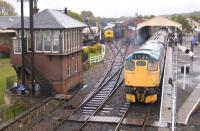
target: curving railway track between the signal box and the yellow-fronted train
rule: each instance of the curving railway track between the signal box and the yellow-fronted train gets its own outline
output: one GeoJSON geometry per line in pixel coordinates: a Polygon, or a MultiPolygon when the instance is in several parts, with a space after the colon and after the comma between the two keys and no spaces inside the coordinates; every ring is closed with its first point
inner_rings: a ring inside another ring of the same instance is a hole
{"type": "Polygon", "coordinates": [[[115,50],[112,50],[114,58],[112,59],[107,73],[100,84],[98,84],[98,87],[95,88],[69,116],[63,118],[63,120],[55,126],[55,130],[59,129],[66,121],[81,120],[81,118],[84,117],[83,124],[79,125],[79,128],[77,129],[82,130],[88,123],[88,120],[102,109],[101,107],[108,101],[116,89],[121,86],[123,82],[123,77],[121,75],[123,60],[129,46],[126,46],[124,52],[119,50],[122,49],[122,45],[120,45],[120,47],[114,45],[114,47],[115,50]]]}

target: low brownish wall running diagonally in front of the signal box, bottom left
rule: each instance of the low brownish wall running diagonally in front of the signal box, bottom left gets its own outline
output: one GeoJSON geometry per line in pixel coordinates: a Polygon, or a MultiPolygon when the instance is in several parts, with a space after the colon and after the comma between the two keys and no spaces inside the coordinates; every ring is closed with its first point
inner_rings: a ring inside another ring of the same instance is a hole
{"type": "Polygon", "coordinates": [[[10,121],[5,125],[1,125],[0,130],[26,131],[31,129],[43,118],[44,115],[60,106],[61,103],[62,101],[55,100],[54,98],[48,98],[41,104],[35,105],[31,109],[17,116],[15,120],[10,121]]]}

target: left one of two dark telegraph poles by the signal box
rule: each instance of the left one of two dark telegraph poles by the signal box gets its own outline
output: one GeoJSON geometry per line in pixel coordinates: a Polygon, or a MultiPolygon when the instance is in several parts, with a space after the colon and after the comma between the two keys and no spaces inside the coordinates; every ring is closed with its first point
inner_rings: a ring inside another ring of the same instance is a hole
{"type": "Polygon", "coordinates": [[[25,86],[25,79],[26,79],[26,73],[25,73],[25,53],[26,53],[26,46],[24,43],[24,0],[21,0],[21,42],[22,42],[22,85],[25,86]]]}

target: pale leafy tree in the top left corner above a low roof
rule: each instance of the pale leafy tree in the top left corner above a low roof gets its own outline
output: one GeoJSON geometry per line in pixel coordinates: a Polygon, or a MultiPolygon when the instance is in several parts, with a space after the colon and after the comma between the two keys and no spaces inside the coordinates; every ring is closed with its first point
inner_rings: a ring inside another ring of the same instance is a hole
{"type": "Polygon", "coordinates": [[[15,12],[15,8],[9,3],[4,0],[0,0],[0,16],[4,15],[17,15],[15,12]]]}

